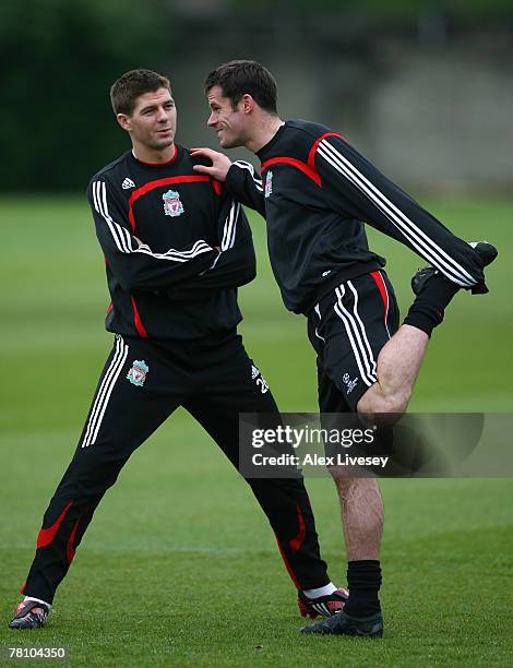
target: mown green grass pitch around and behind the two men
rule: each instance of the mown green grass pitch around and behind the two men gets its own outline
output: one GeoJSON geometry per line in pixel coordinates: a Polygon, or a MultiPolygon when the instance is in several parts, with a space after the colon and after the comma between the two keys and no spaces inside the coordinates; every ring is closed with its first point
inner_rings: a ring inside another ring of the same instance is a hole
{"type": "MultiPolygon", "coordinates": [[[[488,272],[490,294],[458,295],[448,310],[411,409],[513,411],[513,201],[422,203],[456,234],[494,241],[501,254],[488,272]]],[[[294,587],[263,514],[182,410],[107,493],[46,629],[8,631],[111,336],[103,326],[109,300],[85,200],[3,199],[0,218],[0,663],[10,663],[9,646],[43,645],[65,646],[72,666],[513,665],[510,479],[384,480],[385,637],[301,636],[294,587]]],[[[283,308],[260,219],[253,230],[260,275],[241,290],[246,345],[282,410],[314,411],[305,319],[283,308]]],[[[421,262],[371,237],[389,258],[404,311],[421,262]]],[[[307,485],[323,556],[343,584],[334,487],[327,478],[307,485]]]]}

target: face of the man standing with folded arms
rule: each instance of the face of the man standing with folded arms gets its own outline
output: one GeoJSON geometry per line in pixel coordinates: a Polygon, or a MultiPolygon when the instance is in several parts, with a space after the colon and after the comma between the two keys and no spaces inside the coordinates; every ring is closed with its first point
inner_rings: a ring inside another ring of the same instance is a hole
{"type": "Polygon", "coordinates": [[[159,151],[175,141],[177,109],[167,88],[143,93],[135,100],[131,116],[118,114],[118,121],[130,132],[134,146],[142,144],[159,151]]]}

